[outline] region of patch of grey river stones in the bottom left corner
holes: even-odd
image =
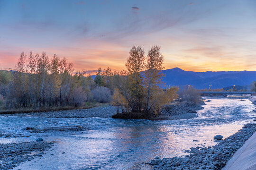
[[[0,170],[12,169],[22,162],[40,157],[52,145],[46,142],[0,144]]]

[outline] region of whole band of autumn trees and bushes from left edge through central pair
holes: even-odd
[[[73,64],[56,54],[50,58],[46,52],[22,52],[13,71],[0,71],[0,107],[78,107],[88,102],[111,102],[117,111],[158,114],[178,98],[179,90],[164,89],[163,63],[160,46],[152,46],[147,54],[141,46],[132,46],[126,70],[99,68],[93,79],[85,72],[74,73]]]

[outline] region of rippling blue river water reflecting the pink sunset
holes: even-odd
[[[156,155],[173,157],[195,146],[215,145],[213,136],[228,137],[252,120],[255,106],[249,100],[207,98],[195,119],[122,120],[106,118],[0,117],[0,132],[29,136],[0,137],[0,143],[55,141],[53,151],[25,162],[21,170],[130,170],[150,169],[142,162]],[[30,133],[26,127],[88,127],[85,131]],[[193,140],[198,140],[194,141]],[[63,154],[63,152],[65,152]],[[52,155],[53,154],[53,155]],[[36,162],[34,162],[36,161]]]

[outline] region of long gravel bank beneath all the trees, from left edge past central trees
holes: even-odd
[[[192,119],[197,117],[196,110],[201,110],[204,102],[200,104],[193,104],[189,102],[175,102],[161,111],[157,116],[151,116],[150,120],[174,120],[174,119]],[[121,111],[121,110],[120,110]],[[73,110],[52,110],[52,111],[42,111],[42,112],[21,112],[12,114],[0,114],[0,116],[21,116],[21,117],[44,117],[44,118],[119,118],[113,115],[116,114],[116,107],[105,104],[98,107],[93,107],[90,109],[73,109]],[[125,119],[148,119],[137,114],[131,113],[119,113],[120,118]]]

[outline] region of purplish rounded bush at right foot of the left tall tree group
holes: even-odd
[[[86,93],[82,90],[82,87],[74,88],[71,93],[71,103],[75,106],[82,106],[86,101]]]

